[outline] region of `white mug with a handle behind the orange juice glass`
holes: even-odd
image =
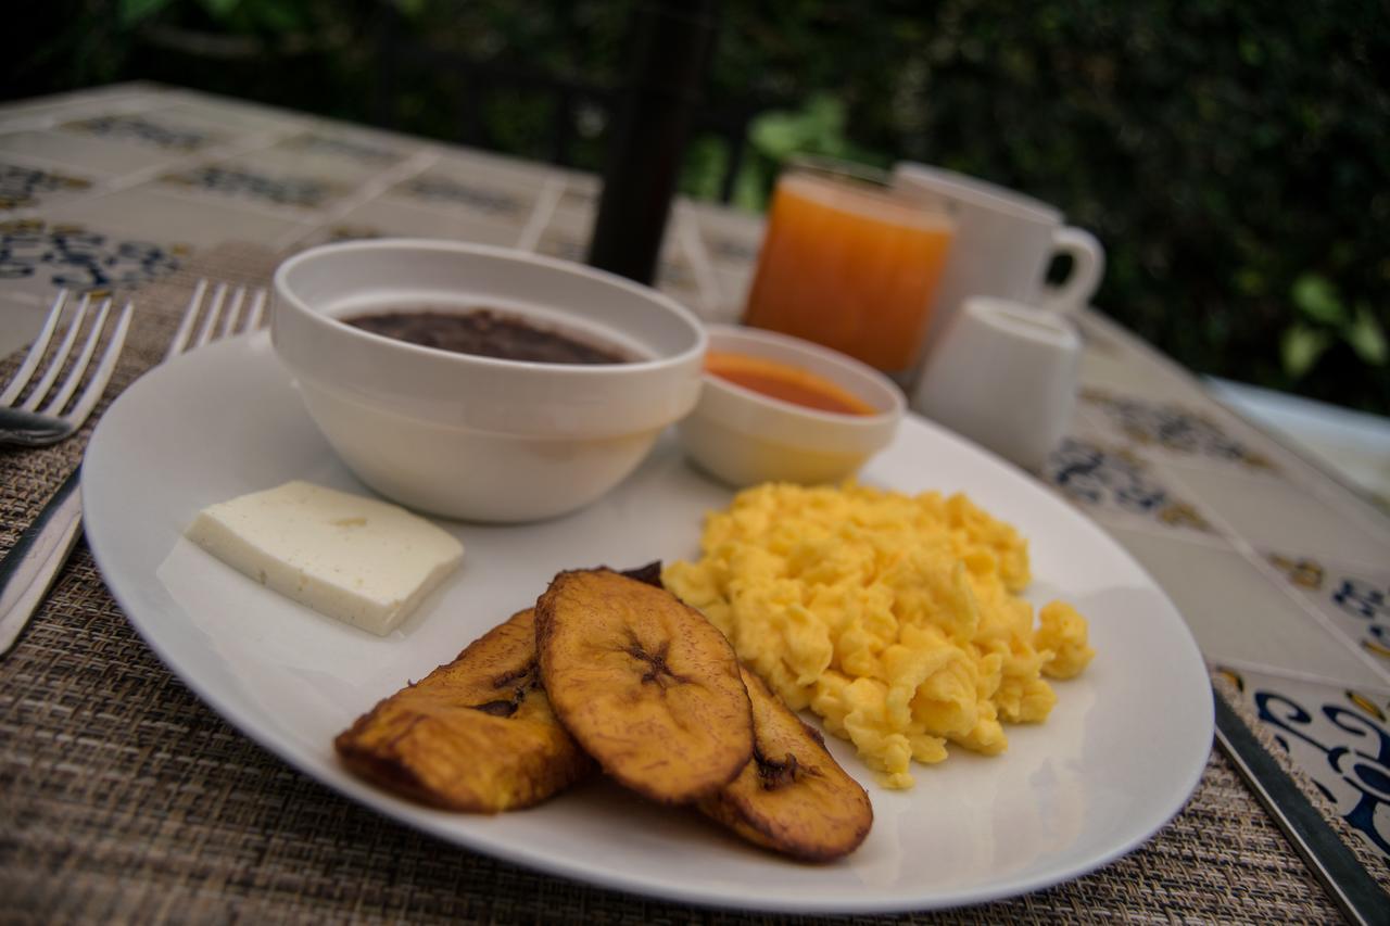
[[[902,161],[892,185],[923,203],[945,206],[955,241],[937,285],[929,341],[969,296],[999,296],[1056,311],[1083,309],[1101,284],[1105,249],[1062,213],[1011,189],[926,164]],[[1048,285],[1052,257],[1069,254],[1066,281]]]

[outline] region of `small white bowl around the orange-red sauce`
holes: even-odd
[[[712,352],[776,360],[848,391],[873,414],[817,412],[705,374],[699,405],[680,423],[687,455],[734,487],[838,482],[885,448],[902,420],[902,391],[838,350],[759,328],[710,325]]]

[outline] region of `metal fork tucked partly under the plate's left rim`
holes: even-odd
[[[265,310],[264,289],[250,293],[250,306],[245,313],[242,311],[247,296],[245,286],[234,289],[227,284],[217,284],[204,309],[207,291],[208,282],[199,279],[164,355],[165,360],[218,338],[254,331],[261,325]],[[129,306],[126,306],[128,313]],[[82,520],[82,496],[75,491],[79,471],[72,471],[33,524],[19,537],[10,555],[0,562],[0,655],[10,651],[15,637],[29,623],[29,617],[33,616],[76,542]]]

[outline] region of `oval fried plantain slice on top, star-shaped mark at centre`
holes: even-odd
[[[734,648],[698,610],[609,569],[560,573],[535,606],[562,723],[619,783],[662,804],[712,794],[753,751]]]

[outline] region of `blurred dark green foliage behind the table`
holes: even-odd
[[[634,3],[381,0],[409,33],[517,71],[616,86]],[[147,76],[371,121],[374,0],[21,1],[39,40],[7,96]],[[21,17],[22,18],[22,17]],[[253,39],[214,61],[167,26]],[[165,29],[167,31],[167,29]],[[1026,190],[1094,231],[1097,304],[1204,373],[1390,413],[1390,7],[1383,0],[728,0],[708,101],[763,103],[735,202],[758,209],[794,150],[942,164]],[[471,95],[470,95],[471,93]],[[486,99],[402,72],[400,128],[546,154],[553,100]],[[602,163],[581,108],[573,160]],[[691,145],[682,185],[728,163]]]

